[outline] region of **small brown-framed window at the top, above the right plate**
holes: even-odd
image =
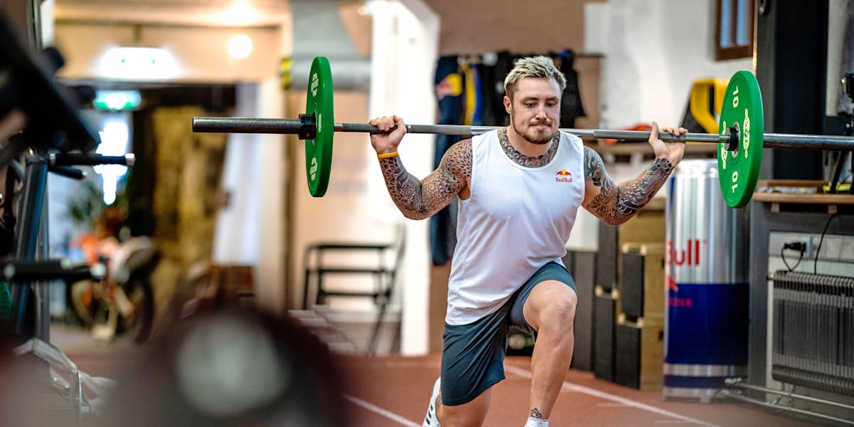
[[[717,0],[715,59],[753,56],[755,0]]]

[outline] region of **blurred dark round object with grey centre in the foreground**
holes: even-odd
[[[336,361],[285,317],[196,313],[145,351],[98,425],[348,425]]]

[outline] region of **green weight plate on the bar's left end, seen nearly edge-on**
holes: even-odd
[[[312,61],[308,73],[306,114],[314,114],[317,132],[314,139],[306,139],[306,176],[308,191],[315,197],[326,194],[332,167],[332,134],[335,120],[332,106],[332,71],[329,61],[318,56]]]

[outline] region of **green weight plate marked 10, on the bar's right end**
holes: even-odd
[[[729,80],[723,97],[718,132],[737,127],[739,145],[728,151],[722,143],[717,151],[717,178],[723,199],[732,208],[743,208],[750,202],[759,180],[762,165],[764,120],[762,94],[753,73],[739,71]]]

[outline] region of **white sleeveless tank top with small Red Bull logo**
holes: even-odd
[[[561,132],[544,167],[504,153],[498,131],[471,138],[471,196],[459,202],[457,246],[448,280],[448,325],[493,313],[541,266],[561,265],[584,200],[584,146]]]

